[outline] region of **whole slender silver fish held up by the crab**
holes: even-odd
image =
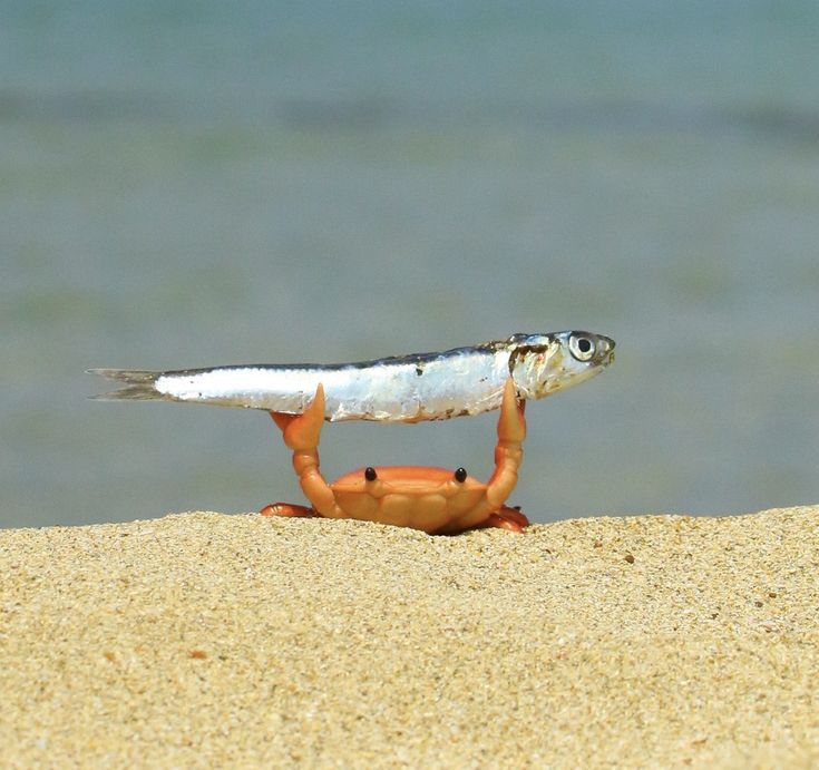
[[[500,407],[511,374],[517,396],[539,399],[583,382],[614,360],[614,340],[565,331],[358,363],[287,363],[179,371],[89,369],[126,384],[91,398],[187,401],[300,415],[324,386],[330,422],[418,422]]]

